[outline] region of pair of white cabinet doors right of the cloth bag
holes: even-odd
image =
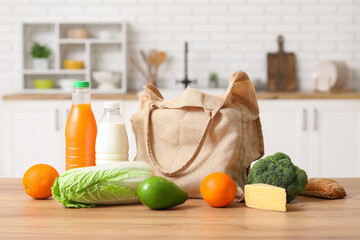
[[[359,100],[260,100],[265,156],[287,153],[309,177],[360,177]]]

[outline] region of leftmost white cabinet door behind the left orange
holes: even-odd
[[[22,177],[34,164],[64,172],[61,104],[57,101],[6,101],[4,107],[4,177]]]

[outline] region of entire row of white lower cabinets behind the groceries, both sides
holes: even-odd
[[[106,100],[92,101],[99,124]],[[265,156],[284,152],[309,177],[360,177],[359,100],[259,100]],[[1,177],[22,177],[37,163],[65,170],[65,125],[70,100],[3,101]],[[129,137],[129,159],[136,155],[130,117],[138,101],[121,101]]]

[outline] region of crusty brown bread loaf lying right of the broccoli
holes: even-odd
[[[336,199],[346,196],[345,189],[333,179],[311,178],[300,195]]]

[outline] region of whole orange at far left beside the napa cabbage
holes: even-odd
[[[24,174],[25,192],[33,198],[51,197],[51,187],[59,173],[50,165],[37,164],[30,167]]]

